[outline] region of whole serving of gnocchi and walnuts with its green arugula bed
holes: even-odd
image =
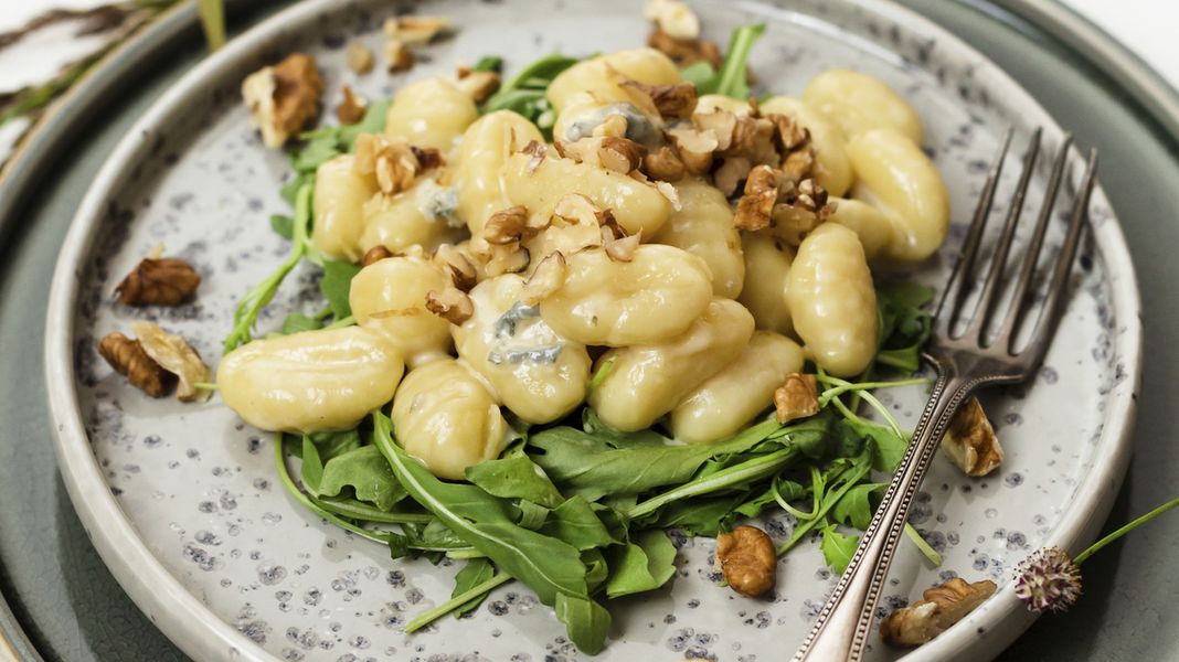
[[[887,410],[877,425],[841,393],[878,388],[877,365],[911,376],[929,333],[930,293],[872,276],[946,238],[917,113],[852,71],[751,98],[764,26],[722,59],[681,4],[648,9],[652,47],[542,58],[494,93],[485,58],[292,154],[292,253],[243,298],[217,388],[277,432],[316,515],[394,558],[467,560],[407,633],[519,580],[597,653],[600,601],[676,575],[672,527],[716,536],[746,596],[809,532],[842,571],[857,538],[836,527],[868,499],[777,548],[736,521],[829,510],[904,452]],[[252,339],[303,258],[328,307]]]

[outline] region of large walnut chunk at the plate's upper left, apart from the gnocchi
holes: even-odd
[[[268,147],[282,147],[318,114],[323,78],[315,58],[292,53],[272,67],[263,67],[242,81],[242,98],[250,107],[250,123],[262,132]]]

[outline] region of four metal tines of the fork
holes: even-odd
[[[1081,178],[1076,197],[1073,200],[1073,208],[1069,214],[1065,240],[1061,244],[1060,252],[1055,258],[1055,265],[1052,269],[1052,280],[1048,285],[1043,305],[1040,306],[1040,315],[1038,317],[1036,325],[1028,336],[1030,339],[1027,342],[1026,346],[1016,347],[1015,344],[1019,331],[1022,329],[1029,313],[1032,312],[1030,309],[1033,306],[1028,300],[1028,291],[1035,277],[1040,250],[1043,246],[1043,238],[1053,216],[1052,212],[1056,204],[1056,197],[1060,191],[1061,183],[1063,181],[1065,166],[1069,160],[1073,139],[1071,135],[1066,135],[1061,141],[1055,163],[1052,167],[1052,174],[1048,179],[1048,186],[1045,190],[1043,201],[1040,206],[1040,214],[1036,220],[1035,230],[1028,241],[1023,254],[1023,263],[1019,270],[1017,280],[1015,282],[1013,293],[1009,297],[1010,303],[1007,306],[1002,322],[997,326],[997,331],[994,336],[989,336],[988,330],[994,327],[994,316],[996,313],[995,309],[1010,283],[1009,279],[1005,277],[1005,272],[1007,260],[1012,251],[1012,245],[1015,239],[1015,229],[1019,225],[1025,198],[1027,197],[1032,176],[1035,172],[1036,159],[1040,155],[1040,143],[1042,137],[1042,131],[1040,128],[1036,128],[1032,133],[1027,151],[1023,153],[1023,168],[1020,172],[1019,184],[1016,185],[1015,192],[1012,194],[1010,204],[1007,210],[1007,218],[1003,223],[999,241],[995,245],[995,250],[990,259],[989,271],[987,272],[986,279],[982,280],[982,290],[979,293],[977,303],[974,305],[968,317],[963,317],[964,311],[962,309],[968,294],[970,293],[971,284],[975,282],[975,263],[979,260],[979,250],[983,244],[987,220],[990,217],[995,199],[995,191],[999,186],[999,176],[1002,173],[1003,161],[1010,147],[1013,134],[1014,128],[1008,130],[1007,134],[1003,137],[1003,143],[999,150],[999,154],[995,157],[995,161],[987,174],[987,180],[982,188],[982,196],[979,199],[979,205],[974,212],[974,219],[970,223],[970,229],[967,232],[966,240],[962,245],[961,257],[954,267],[954,273],[950,276],[946,292],[942,294],[941,304],[937,309],[936,324],[938,335],[947,344],[961,344],[963,349],[999,345],[1006,347],[1009,356],[1030,358],[1033,363],[1039,363],[1039,360],[1043,358],[1043,352],[1047,350],[1048,342],[1055,330],[1056,322],[1059,320],[1062,310],[1065,293],[1068,289],[1068,276],[1072,271],[1073,260],[1076,257],[1078,246],[1080,245],[1081,230],[1085,225],[1089,204],[1089,194],[1093,191],[1094,171],[1096,170],[1096,151],[1094,150],[1089,152],[1088,163],[1085,166],[1085,174]],[[964,322],[966,327],[961,332],[955,333],[955,330],[961,327],[962,322]]]

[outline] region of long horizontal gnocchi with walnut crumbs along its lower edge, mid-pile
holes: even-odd
[[[513,205],[523,205],[531,216],[546,221],[569,193],[580,193],[599,208],[611,210],[628,234],[641,232],[651,237],[671,216],[671,200],[654,186],[604,167],[559,158],[552,151],[539,164],[528,154],[509,157],[503,168],[503,186]]]

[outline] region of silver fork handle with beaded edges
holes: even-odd
[[[929,470],[942,435],[962,400],[979,384],[963,378],[953,363],[933,362],[937,369],[934,390],[917,423],[901,465],[872,516],[848,569],[839,577],[818,620],[795,654],[795,662],[855,662],[864,653],[872,613],[880,598],[893,552],[901,539],[909,505]]]

